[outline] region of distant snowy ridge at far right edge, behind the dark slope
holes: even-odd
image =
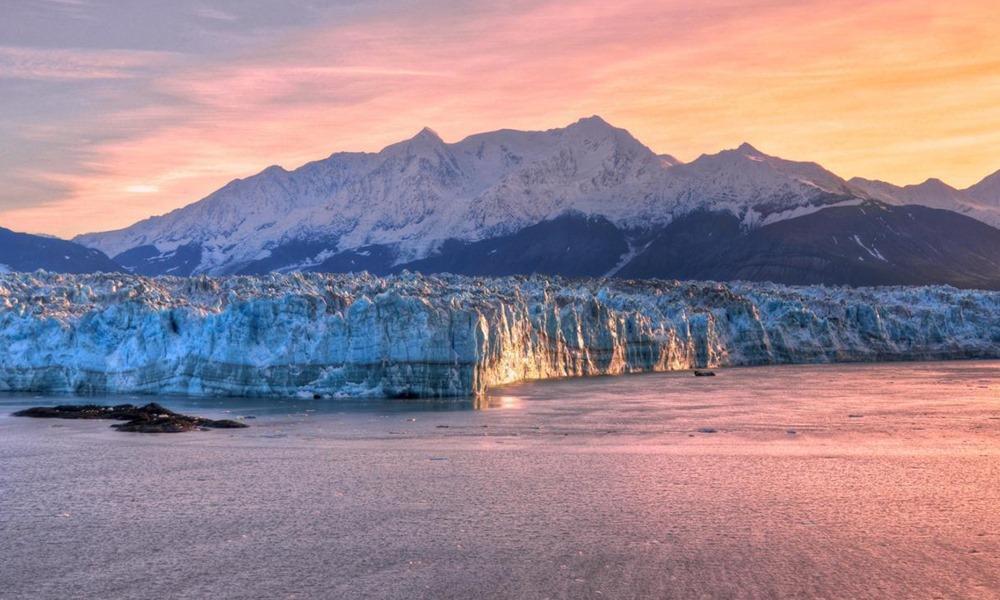
[[[897,186],[885,181],[855,177],[850,185],[871,198],[887,204],[919,204],[972,217],[993,227],[1000,227],[1000,177],[995,184],[989,178],[968,190],[958,190],[940,179],[928,179],[917,185]],[[992,204],[987,201],[992,196]]]

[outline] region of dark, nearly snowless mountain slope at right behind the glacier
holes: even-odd
[[[741,232],[698,213],[661,231],[621,277],[1000,289],[1000,230],[923,206],[824,209]]]

